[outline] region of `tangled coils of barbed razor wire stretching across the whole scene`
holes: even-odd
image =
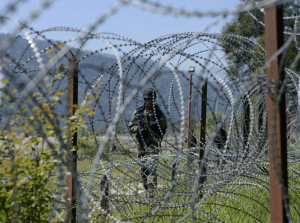
[[[21,1],[15,1],[15,5],[18,2]],[[273,2],[281,4],[283,1]],[[235,220],[231,215],[238,216],[236,221],[268,221],[270,186],[266,95],[272,94],[275,83],[266,79],[264,48],[247,37],[226,32],[205,33],[231,13],[248,12],[258,26],[264,26],[263,21],[257,19],[251,10],[264,8],[265,3],[248,1],[228,11],[191,12],[151,1],[118,1],[85,30],[52,27],[38,31],[29,27],[27,24],[30,20],[35,19],[51,3],[52,1],[44,1],[38,12],[33,12],[25,22],[9,18],[7,15],[15,9],[7,6],[1,22],[10,20],[17,26],[0,43],[1,58],[11,59],[0,66],[0,79],[7,80],[4,82],[6,84],[2,83],[0,86],[1,104],[9,104],[14,99],[15,105],[14,108],[1,107],[3,132],[11,130],[10,115],[17,112],[18,108],[42,106],[37,97],[31,97],[32,92],[51,104],[57,100],[56,92],[68,89],[70,69],[66,55],[70,50],[75,57],[74,63],[79,67],[79,104],[86,105],[89,102],[87,107],[94,112],[84,118],[85,127],[78,127],[78,155],[68,158],[67,142],[60,128],[66,124],[66,119],[59,118],[60,115],[67,114],[64,106],[67,98],[62,96],[63,103],[55,106],[54,116],[49,112],[41,114],[50,118],[56,127],[53,128],[51,137],[42,133],[43,128],[47,128],[45,126],[37,127],[41,132],[35,134],[40,134],[49,150],[54,150],[54,144],[60,144],[60,152],[55,156],[59,168],[57,172],[51,173],[52,178],[58,179],[56,182],[59,189],[52,191],[56,199],[52,204],[50,221],[66,219],[65,167],[72,159],[77,160],[78,166],[78,222],[99,222],[99,219],[103,220],[103,216],[113,222],[228,222]],[[199,32],[169,34],[147,43],[139,43],[114,33],[94,33],[97,26],[121,10],[125,4],[167,15],[209,15],[216,18]],[[264,11],[261,10],[261,13]],[[288,44],[284,47],[294,45],[298,49],[298,15],[284,19],[293,19],[295,24],[294,32],[287,33]],[[74,32],[75,38],[61,41],[60,46],[47,38],[50,32]],[[17,36],[18,34],[20,35]],[[19,58],[14,58],[8,49],[17,40],[26,40],[27,47]],[[39,40],[45,40],[49,46],[38,48]],[[91,40],[102,41],[106,46],[94,51],[84,51],[83,47]],[[74,48],[75,45],[79,47]],[[245,66],[251,71],[250,75],[234,73],[224,63],[223,57],[218,53],[224,45],[234,53],[247,53],[250,59]],[[56,55],[52,61],[43,59],[46,54],[54,51]],[[103,63],[101,58],[109,58],[110,63]],[[299,53],[294,62],[298,59]],[[186,64],[197,67],[192,74],[191,119],[194,125],[189,129],[192,137],[189,138],[191,147],[187,149],[189,74],[182,68]],[[256,69],[257,64],[262,68]],[[65,69],[57,72],[59,67]],[[288,190],[291,197],[298,198],[300,79],[295,70],[286,68],[284,72],[288,120]],[[53,82],[53,78],[56,82]],[[206,142],[203,142],[200,139],[201,87],[206,79]],[[271,83],[268,87],[267,82]],[[45,91],[45,86],[51,92]],[[155,196],[151,199],[147,198],[140,173],[146,158],[138,158],[138,142],[128,130],[132,113],[143,105],[142,93],[148,87],[155,89],[156,104],[165,114],[168,125],[159,154],[149,155],[156,165],[158,178]],[[12,93],[15,88],[19,90],[17,95]],[[27,97],[32,98],[30,103],[25,101]],[[23,118],[35,115],[31,109],[22,114]],[[157,113],[155,122],[159,123]],[[13,126],[22,127],[24,123],[26,119],[19,119]],[[216,143],[221,129],[226,132],[226,140],[222,145]],[[160,126],[159,131],[164,135]],[[19,134],[22,132],[19,131]],[[205,162],[200,162],[199,153],[203,149],[205,152],[202,161]],[[3,149],[1,152],[14,156],[20,150],[22,147],[15,148],[15,151]],[[39,156],[38,151],[36,149],[33,157]],[[2,161],[5,157],[2,157]],[[202,163],[200,167],[199,163]],[[206,171],[203,171],[204,168]],[[206,180],[200,182],[203,177]],[[7,181],[4,178],[1,180],[2,184]],[[107,192],[103,190],[103,185]],[[107,201],[105,209],[102,206],[103,200]],[[291,221],[299,221],[299,205],[299,199],[290,200]]]

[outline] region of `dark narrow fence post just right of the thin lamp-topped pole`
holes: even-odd
[[[205,149],[205,134],[206,134],[206,107],[207,107],[207,78],[204,80],[203,86],[202,86],[202,100],[201,100],[201,126],[200,126],[200,154],[199,154],[199,171],[200,166],[203,162],[203,168],[202,172],[199,178],[199,190],[200,190],[200,198],[203,197],[203,184],[206,181],[206,159],[204,157],[204,149]]]

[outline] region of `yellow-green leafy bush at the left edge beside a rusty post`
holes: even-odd
[[[61,65],[51,82],[63,71]],[[64,91],[54,91],[51,83],[42,81],[39,89],[25,98],[34,103],[31,107],[16,106],[18,90],[11,89],[9,82],[6,87],[5,97],[10,100],[6,106],[16,112],[0,132],[0,222],[48,222],[59,189],[52,173],[65,170],[65,166],[57,170],[57,164],[64,163],[71,150],[64,149],[70,142],[67,139],[86,129],[84,119],[92,112],[88,106],[93,96],[75,105],[75,114],[66,117],[55,112]]]

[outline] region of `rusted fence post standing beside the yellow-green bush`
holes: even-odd
[[[78,64],[75,63],[74,55],[69,51],[68,73],[68,115],[75,113],[74,105],[78,104]],[[77,146],[77,133],[68,140],[68,166],[67,166],[67,222],[76,223],[77,201],[77,151],[72,150]]]

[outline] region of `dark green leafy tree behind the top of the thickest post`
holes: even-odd
[[[247,0],[246,2],[250,2]],[[300,15],[300,5],[295,3],[284,4],[284,17],[291,17]],[[255,9],[250,12],[242,12],[236,14],[232,21],[227,23],[223,27],[223,34],[233,34],[237,36],[247,37],[258,43],[263,49],[265,48],[265,35],[264,35],[264,13],[260,9]],[[295,19],[284,20],[284,39],[285,41],[290,37],[287,33],[294,31]],[[227,35],[228,36],[228,35]],[[248,75],[255,72],[262,66],[263,61],[257,61],[253,58],[253,55],[247,52],[250,48],[250,44],[253,43],[241,43],[240,41],[230,42],[222,41],[223,51],[226,54],[226,60],[229,65],[229,70],[234,75]],[[297,43],[296,43],[297,44]],[[298,54],[295,42],[289,45],[285,51],[284,66],[290,68],[294,58]],[[244,45],[243,50],[241,49]],[[258,48],[259,50],[259,48]],[[263,50],[259,50],[264,54]],[[299,70],[300,63],[297,62],[292,69]]]

